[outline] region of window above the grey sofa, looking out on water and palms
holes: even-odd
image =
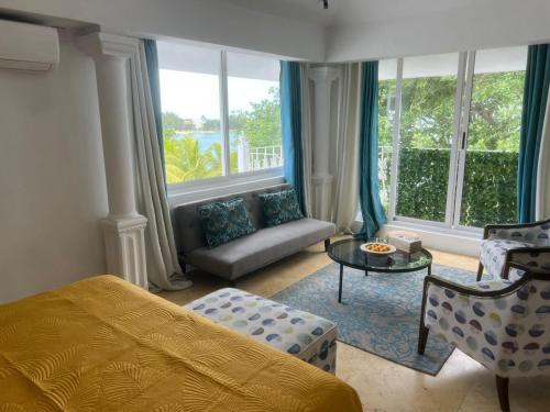
[[[157,47],[168,185],[283,165],[277,59]]]

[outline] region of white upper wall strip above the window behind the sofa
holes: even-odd
[[[314,62],[324,58],[322,26],[223,0],[2,0],[0,7],[95,23],[121,34],[186,38]]]

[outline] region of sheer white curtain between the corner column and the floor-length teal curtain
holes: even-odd
[[[334,196],[331,220],[342,233],[355,232],[359,199],[359,111],[361,69],[359,63],[342,67],[338,93]]]

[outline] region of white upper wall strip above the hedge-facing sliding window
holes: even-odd
[[[327,31],[328,62],[381,59],[550,41],[550,1],[484,0],[444,13],[418,12]]]

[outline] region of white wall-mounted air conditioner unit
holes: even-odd
[[[0,20],[0,69],[40,73],[58,63],[57,30]]]

